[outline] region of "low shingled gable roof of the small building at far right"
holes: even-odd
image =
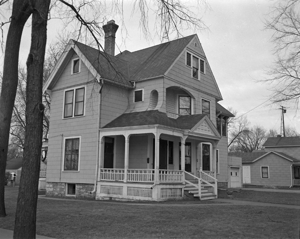
[[[230,152],[228,153],[228,156],[235,156],[235,157],[241,157],[241,162],[242,163],[253,163],[263,157],[265,157],[266,155],[270,154],[270,153],[275,153],[291,162],[300,162],[300,160],[293,158],[283,152],[277,152],[277,151],[259,151],[259,152]]]

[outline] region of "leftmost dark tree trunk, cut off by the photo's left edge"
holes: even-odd
[[[28,0],[14,0],[7,33],[3,79],[0,95],[0,217],[6,216],[4,204],[4,175],[7,159],[10,120],[18,85],[18,61],[22,31],[31,14]]]

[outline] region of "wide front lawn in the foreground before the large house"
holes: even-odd
[[[1,228],[13,230],[17,190],[5,187],[8,215],[0,218]],[[38,199],[37,205],[37,234],[58,239],[299,238],[299,221],[297,209],[185,201]]]

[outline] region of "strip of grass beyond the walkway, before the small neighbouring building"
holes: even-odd
[[[232,191],[232,190],[231,190]],[[233,192],[232,199],[246,200],[254,202],[264,203],[278,203],[288,205],[300,206],[300,194],[299,193],[281,193],[281,192],[262,192],[253,190],[240,190],[240,192]],[[224,190],[218,190],[218,198],[228,199],[227,192]]]

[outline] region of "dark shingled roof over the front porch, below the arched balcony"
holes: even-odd
[[[192,129],[200,120],[206,115],[188,115],[180,116],[177,119],[172,119],[166,113],[158,110],[148,110],[142,112],[133,112],[123,114],[117,119],[106,124],[103,128],[116,128],[128,126],[142,126],[142,125],[163,125],[178,129]]]

